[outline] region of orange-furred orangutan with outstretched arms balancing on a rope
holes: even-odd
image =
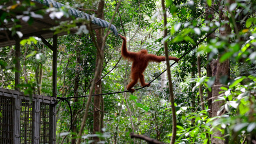
[[[138,79],[140,79],[141,86],[150,86],[150,84],[145,83],[143,72],[148,66],[148,62],[161,62],[165,61],[165,57],[157,56],[155,54],[148,54],[147,50],[140,50],[140,52],[130,52],[126,48],[126,38],[122,35],[119,35],[123,39],[123,45],[121,49],[121,54],[124,59],[129,59],[133,61],[131,69],[131,79],[132,81],[127,85],[127,90],[134,92],[132,87],[137,84]],[[169,60],[174,60],[177,63],[179,58],[169,56]]]

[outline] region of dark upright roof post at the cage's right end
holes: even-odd
[[[57,98],[57,49],[58,36],[53,35],[53,51],[52,51],[52,97]]]

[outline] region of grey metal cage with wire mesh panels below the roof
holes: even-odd
[[[0,88],[0,144],[55,143],[56,98]]]

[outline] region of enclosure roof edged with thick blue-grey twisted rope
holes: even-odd
[[[45,6],[49,6],[49,7],[52,6],[52,7],[56,7],[56,8],[65,6],[61,3],[51,1],[51,0],[34,0],[31,2],[35,3],[35,7],[30,12],[37,12],[39,10],[44,9]],[[12,5],[12,2],[9,2],[5,6],[8,7],[11,5]],[[107,28],[110,24],[109,22],[107,22],[105,20],[95,18],[90,14],[78,11],[73,8],[70,8],[68,10],[68,12],[73,17],[82,18],[82,19],[91,21],[92,29]],[[22,15],[23,11],[21,11],[19,9],[14,9],[14,10],[12,10],[12,13],[14,13],[14,15],[13,15],[13,18],[14,18],[14,17],[17,17],[17,15]],[[61,21],[73,20],[73,18],[71,18],[71,17],[69,17],[69,18],[62,17],[60,19],[57,19],[57,18],[51,19],[49,16],[49,13],[46,13],[45,15],[43,15],[43,18],[35,18],[34,17],[33,19],[34,19],[34,22],[31,25],[29,25],[27,22],[21,20],[20,31],[23,34],[22,39],[28,38],[30,36],[36,36],[36,35],[41,35],[44,38],[52,38],[53,31],[50,30],[50,28],[52,28],[54,26],[59,26],[59,23]],[[4,27],[6,27],[6,28],[12,28],[14,25],[13,22],[8,22],[8,23],[3,23],[3,24],[4,24]],[[3,26],[1,26],[1,27],[3,28]],[[113,31],[113,33],[115,35],[117,35],[117,30],[114,25],[111,25],[110,29]],[[77,29],[70,30],[71,33],[76,33],[76,31],[77,31]],[[66,35],[66,34],[67,34],[67,32],[62,32],[62,33],[59,33],[58,36],[62,36],[62,35]],[[13,37],[8,35],[5,30],[0,29],[0,47],[11,46],[14,44],[15,44],[15,40],[13,39]]]

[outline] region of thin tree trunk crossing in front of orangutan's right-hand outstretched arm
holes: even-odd
[[[166,10],[165,10],[165,4],[164,0],[162,0],[162,8],[163,8],[163,15],[164,15],[164,37],[167,36],[167,18],[166,18]],[[171,68],[170,68],[170,62],[169,62],[169,53],[168,53],[168,47],[167,42],[164,42],[164,52],[165,52],[165,59],[166,59],[166,65],[167,65],[167,75],[169,80],[169,93],[170,93],[170,99],[171,99],[171,107],[172,107],[172,138],[171,138],[171,144],[175,143],[176,138],[176,131],[177,131],[177,120],[176,120],[176,111],[174,106],[174,94],[173,94],[173,87],[172,87],[172,77],[171,77]]]

